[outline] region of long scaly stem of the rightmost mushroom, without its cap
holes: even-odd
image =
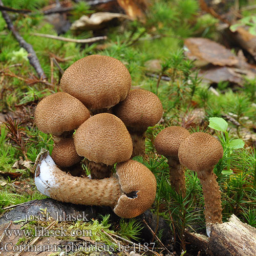
[[[197,176],[200,179],[203,188],[206,233],[209,237],[209,224],[222,223],[220,187],[216,180],[217,177],[214,174],[213,167],[205,171],[197,172]]]

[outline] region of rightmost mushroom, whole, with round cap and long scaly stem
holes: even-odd
[[[222,223],[220,187],[213,172],[214,166],[223,157],[221,143],[207,133],[193,133],[185,138],[178,152],[180,163],[197,172],[202,184],[206,232],[210,236],[209,223]]]

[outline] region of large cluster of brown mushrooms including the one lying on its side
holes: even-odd
[[[115,58],[91,55],[74,62],[62,75],[63,92],[42,99],[35,124],[52,134],[52,156],[37,158],[38,190],[63,202],[108,205],[123,218],[142,214],[154,202],[156,179],[143,164],[145,131],[162,117],[158,97],[131,89],[131,75]],[[86,158],[91,178],[74,177]],[[112,169],[116,165],[116,174]]]

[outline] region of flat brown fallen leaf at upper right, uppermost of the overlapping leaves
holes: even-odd
[[[239,62],[229,49],[207,38],[187,38],[184,47],[189,59],[203,61],[204,65],[212,63],[218,66],[234,66]]]

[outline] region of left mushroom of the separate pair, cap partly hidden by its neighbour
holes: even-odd
[[[155,139],[155,148],[158,154],[163,155],[168,160],[170,184],[177,193],[185,196],[185,170],[178,158],[180,143],[189,136],[189,132],[181,126],[170,126],[162,130]]]

